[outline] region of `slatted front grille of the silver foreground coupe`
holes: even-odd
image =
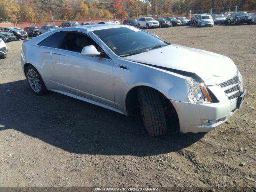
[[[224,92],[226,95],[228,95],[228,94],[230,95],[230,93],[236,92],[235,94],[228,96],[228,100],[238,98],[242,94],[242,92],[240,92],[239,88],[238,88],[238,77],[237,76],[235,76],[234,78],[229,79],[223,83],[220,83],[219,85],[224,89]],[[234,85],[234,86],[232,86],[229,89],[225,88],[230,85]]]

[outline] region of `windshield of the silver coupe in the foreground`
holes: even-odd
[[[135,27],[110,28],[92,32],[118,56],[129,56],[129,54],[138,54],[156,46],[168,45]]]

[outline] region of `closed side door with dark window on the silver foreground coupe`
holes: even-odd
[[[74,94],[114,106],[113,61],[102,56],[82,56],[82,48],[100,46],[81,32],[66,32],[52,53],[52,65],[60,86]]]

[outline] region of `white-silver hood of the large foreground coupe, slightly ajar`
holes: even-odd
[[[124,59],[197,74],[206,85],[220,84],[237,73],[234,62],[223,55],[171,44]]]

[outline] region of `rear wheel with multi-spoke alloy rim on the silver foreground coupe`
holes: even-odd
[[[26,68],[26,78],[34,94],[45,95],[47,93],[44,81],[34,66],[30,65]]]

